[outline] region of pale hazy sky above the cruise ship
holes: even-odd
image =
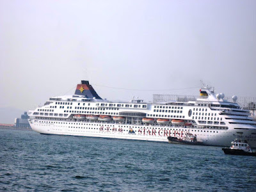
[[[256,97],[256,1],[0,0],[0,108],[34,109],[81,79],[100,97]],[[190,90],[172,90],[194,88]],[[141,90],[156,90],[152,92]]]

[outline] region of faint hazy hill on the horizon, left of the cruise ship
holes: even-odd
[[[16,108],[0,108],[0,124],[14,124],[15,118],[20,118],[23,113]]]

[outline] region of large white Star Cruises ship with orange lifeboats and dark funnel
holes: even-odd
[[[51,97],[29,111],[31,128],[41,134],[168,142],[168,136],[196,136],[204,145],[229,146],[236,138],[256,148],[256,122],[250,112],[215,94],[200,90],[195,100],[161,103],[101,99],[89,81],[77,84],[74,95]]]

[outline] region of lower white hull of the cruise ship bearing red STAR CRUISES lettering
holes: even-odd
[[[185,132],[196,134],[198,141],[203,141],[204,145],[229,146],[231,141],[236,138],[252,139],[251,132],[248,130],[240,136],[236,131],[210,132],[210,130],[195,130],[184,127],[166,127],[152,125],[125,125],[125,124],[102,124],[102,122],[66,122],[53,121],[52,123],[38,123],[36,120],[29,121],[33,131],[41,134],[58,134],[68,136],[85,136],[97,138],[113,138],[124,140],[143,140],[168,142],[168,136],[182,138]],[[63,125],[60,125],[60,124]],[[72,125],[75,124],[75,125]],[[78,125],[76,125],[78,124]],[[79,125],[80,124],[80,125]],[[102,129],[103,127],[103,129]],[[113,129],[115,128],[115,129]],[[120,131],[122,129],[122,131]],[[131,130],[133,132],[131,132]],[[209,131],[209,132],[207,132]],[[250,137],[250,138],[249,138]],[[256,136],[255,136],[256,138]],[[252,148],[256,148],[256,141],[250,141]]]

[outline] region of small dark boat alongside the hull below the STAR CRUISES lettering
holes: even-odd
[[[204,145],[202,141],[196,140],[196,134],[193,135],[191,133],[186,133],[184,138],[177,138],[177,137],[168,137],[168,143],[173,144],[187,144],[187,145]]]

